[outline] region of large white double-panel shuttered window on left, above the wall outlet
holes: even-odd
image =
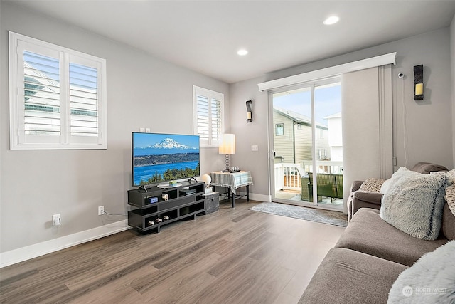
[[[107,149],[106,61],[9,32],[10,146]]]

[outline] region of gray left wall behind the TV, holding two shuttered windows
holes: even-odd
[[[0,4],[0,252],[125,219],[131,188],[131,132],[193,132],[193,85],[225,94],[229,85],[166,63],[135,48]],[[107,150],[9,150],[8,31],[107,60]],[[242,114],[245,114],[243,112]],[[245,116],[245,115],[243,115]],[[217,149],[201,151],[201,172],[223,168]],[[62,226],[50,226],[60,213]]]

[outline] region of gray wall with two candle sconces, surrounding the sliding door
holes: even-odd
[[[453,26],[452,26],[453,27]],[[452,33],[453,36],[453,33]],[[254,192],[268,194],[267,181],[267,115],[268,94],[260,93],[257,83],[268,80],[296,75],[327,68],[333,65],[357,61],[363,58],[379,56],[385,53],[397,52],[397,65],[392,68],[392,96],[394,107],[394,145],[397,156],[397,166],[405,166],[403,148],[404,131],[407,132],[407,165],[411,167],[416,162],[435,162],[448,168],[454,167],[454,152],[452,151],[452,132],[454,125],[451,115],[451,68],[449,28],[412,36],[399,41],[385,43],[372,48],[348,53],[343,56],[328,58],[295,68],[269,73],[231,85],[231,117],[232,132],[237,135],[237,147],[243,149],[242,154],[235,155],[237,164],[249,169],[254,178]],[[413,67],[424,65],[424,96],[419,103],[413,98]],[[397,88],[397,74],[405,73],[406,127],[403,128],[403,111],[401,90]],[[401,87],[400,87],[401,88]],[[245,100],[253,100],[253,115],[255,120],[245,122]],[[355,121],[352,122],[355,124]],[[361,139],[359,139],[361,140]],[[258,152],[250,152],[251,145],[259,145]],[[245,152],[245,154],[243,154]],[[240,157],[241,155],[241,157]],[[247,155],[247,157],[242,158]],[[254,155],[254,156],[253,156]]]

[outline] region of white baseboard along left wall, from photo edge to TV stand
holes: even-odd
[[[117,232],[125,231],[130,228],[131,227],[128,226],[128,221],[125,219],[123,221],[117,221],[93,229],[80,231],[76,234],[70,234],[69,236],[62,236],[58,239],[6,251],[0,253],[0,268],[30,260],[31,258],[36,258],[38,256],[44,256],[45,254],[76,246],[81,243],[100,239],[104,236],[117,234]]]

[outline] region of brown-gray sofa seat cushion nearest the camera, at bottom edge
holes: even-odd
[[[332,248],[299,303],[385,303],[393,282],[407,266],[345,248]]]

